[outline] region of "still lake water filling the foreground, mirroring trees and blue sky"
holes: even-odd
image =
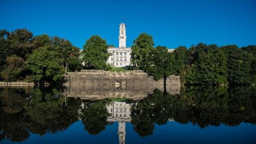
[[[0,87],[0,143],[256,143],[256,87]]]

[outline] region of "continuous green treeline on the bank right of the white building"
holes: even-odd
[[[154,47],[153,37],[140,34],[132,46],[132,63],[154,78],[179,75],[190,85],[249,85],[256,82],[256,45],[239,49],[236,45],[179,46],[168,52]]]

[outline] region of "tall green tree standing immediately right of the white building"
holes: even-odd
[[[153,37],[142,33],[136,38],[132,45],[131,62],[133,66],[145,69],[148,65],[147,57],[154,49]]]

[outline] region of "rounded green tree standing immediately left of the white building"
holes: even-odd
[[[106,61],[110,54],[105,40],[100,36],[91,36],[84,45],[83,61],[85,67],[92,69],[110,69]]]

